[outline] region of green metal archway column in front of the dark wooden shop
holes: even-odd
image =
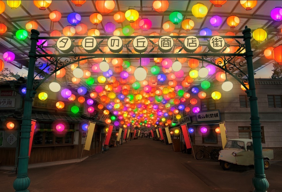
[[[28,77],[26,85],[26,97],[24,98],[24,116],[22,118],[21,136],[20,136],[20,156],[18,164],[18,175],[14,181],[13,187],[16,191],[26,192],[30,184],[30,178],[27,174],[28,169],[28,149],[29,138],[31,132],[31,110],[32,102],[35,97],[36,91],[33,91],[33,77],[35,68],[35,54],[36,44],[38,42],[39,32],[37,30],[31,30],[31,51],[29,52],[29,65],[28,65]]]

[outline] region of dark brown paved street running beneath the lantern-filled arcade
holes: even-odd
[[[0,191],[14,191],[16,177],[0,170]],[[269,192],[282,191],[282,163],[266,170]],[[252,191],[253,167],[224,171],[218,162],[194,160],[172,145],[143,138],[93,155],[81,163],[29,169],[29,190],[39,191]]]

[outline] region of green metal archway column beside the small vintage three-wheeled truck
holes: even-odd
[[[254,67],[253,67],[253,51],[251,50],[251,29],[245,26],[243,36],[246,46],[246,60],[249,79],[249,90],[246,91],[250,101],[251,110],[251,132],[254,145],[254,166],[255,174],[253,178],[254,192],[265,192],[268,187],[268,181],[264,174],[264,162],[262,156],[261,128],[260,117],[258,115],[258,97],[256,97]]]

